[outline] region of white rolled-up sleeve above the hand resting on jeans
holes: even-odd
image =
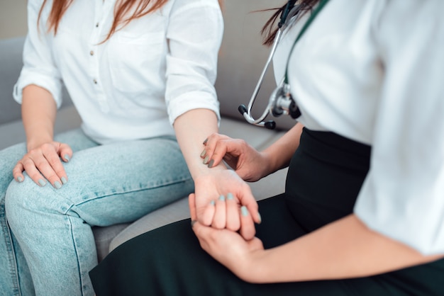
[[[14,86],[13,98],[21,103],[23,89],[35,84],[48,90],[59,108],[62,105],[62,81],[52,58],[50,39],[53,36],[47,32],[46,19],[40,18],[37,25],[41,4],[42,1],[28,1],[28,35],[23,47],[23,68]],[[49,4],[45,6],[45,9],[48,8]]]

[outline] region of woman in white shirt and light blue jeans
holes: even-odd
[[[222,33],[217,0],[28,1],[13,90],[27,142],[0,152],[0,295],[94,295],[91,226],[136,220],[202,176],[241,181],[199,157],[218,130]],[[83,123],[53,137],[62,84]],[[221,194],[199,184],[204,205]]]

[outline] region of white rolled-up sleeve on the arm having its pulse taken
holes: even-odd
[[[213,110],[220,119],[214,82],[222,35],[217,0],[176,1],[167,29],[170,52],[165,100],[171,124],[197,108]]]

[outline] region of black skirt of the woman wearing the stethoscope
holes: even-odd
[[[369,169],[365,144],[307,129],[300,143],[285,193],[259,202],[266,249],[350,215]],[[97,296],[444,295],[444,260],[367,278],[245,283],[201,249],[189,220],[127,241],[89,274]]]

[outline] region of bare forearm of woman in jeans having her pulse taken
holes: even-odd
[[[199,155],[204,149],[203,142],[206,137],[218,132],[216,114],[208,109],[190,110],[174,121],[174,130],[193,179],[196,180],[199,175],[208,173],[210,169],[202,164]],[[219,164],[218,167],[225,169],[223,164]]]

